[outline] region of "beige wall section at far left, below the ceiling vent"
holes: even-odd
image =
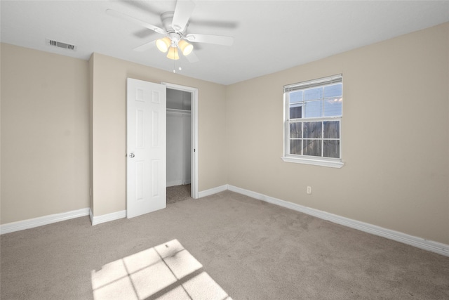
[[[1,44],[1,223],[88,207],[88,62]]]

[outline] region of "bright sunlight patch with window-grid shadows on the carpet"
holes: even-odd
[[[178,240],[91,271],[93,298],[232,300]]]

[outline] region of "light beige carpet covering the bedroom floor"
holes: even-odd
[[[0,241],[1,299],[94,299],[105,286],[97,277],[116,276],[114,266],[126,272],[110,282],[134,282],[121,299],[180,299],[176,292],[225,299],[223,291],[234,300],[449,299],[449,257],[230,191],[134,219],[91,226],[86,216]],[[163,256],[170,243],[182,246]],[[177,275],[183,266],[192,269],[187,277]],[[152,278],[163,274],[178,280],[157,289]],[[141,286],[147,294],[138,296]]]

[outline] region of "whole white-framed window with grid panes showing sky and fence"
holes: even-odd
[[[343,167],[342,75],[284,86],[284,162]]]

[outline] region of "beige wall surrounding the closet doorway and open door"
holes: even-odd
[[[126,78],[199,90],[199,190],[227,183],[225,86],[94,53],[93,215],[126,209]]]

